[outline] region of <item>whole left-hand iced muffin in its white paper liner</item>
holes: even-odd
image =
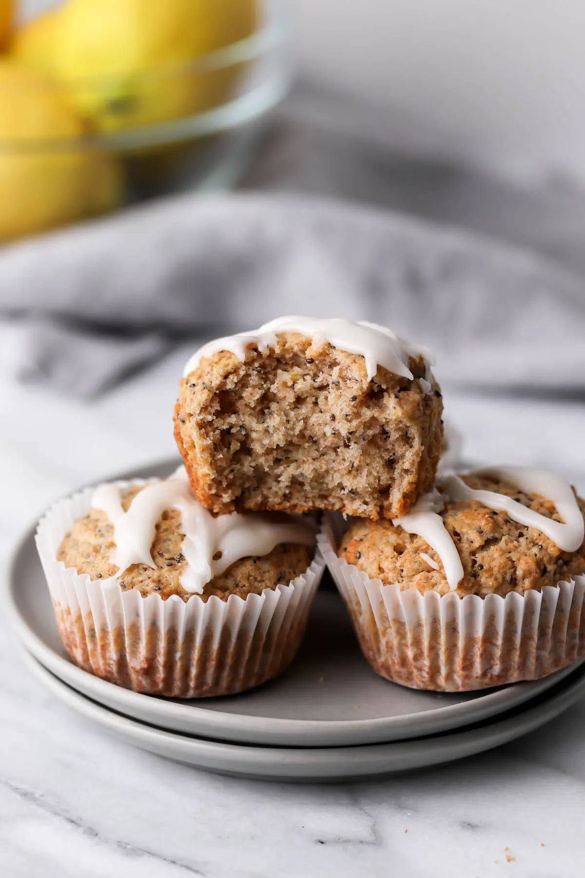
[[[120,686],[182,698],[281,673],[325,566],[311,522],[214,517],[183,468],[61,500],[37,544],[70,658]]]

